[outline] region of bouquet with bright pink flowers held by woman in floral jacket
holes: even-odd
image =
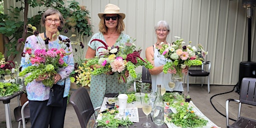
[[[39,41],[38,31],[36,31],[36,27],[32,26],[31,24],[27,25],[28,28],[33,29],[33,34],[37,37]],[[56,33],[58,36],[59,32]],[[22,56],[25,57],[25,62],[31,63],[31,65],[24,68],[21,72],[19,72],[19,76],[25,76],[24,84],[31,82],[33,79],[37,78],[39,75],[41,76],[48,76],[48,79],[44,79],[42,83],[45,86],[52,87],[54,83],[54,74],[57,73],[58,68],[65,67],[67,64],[64,62],[63,57],[70,54],[71,52],[66,52],[65,48],[69,47],[70,39],[62,39],[58,36],[58,39],[61,40],[60,49],[51,48],[48,49],[48,41],[49,38],[44,38],[45,48],[35,49],[32,51],[31,48],[26,48],[25,52],[22,53]],[[43,44],[43,43],[41,43]],[[69,50],[69,49],[68,49]]]

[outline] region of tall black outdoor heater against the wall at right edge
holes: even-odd
[[[256,0],[242,0],[242,6],[246,8],[248,18],[248,58],[247,61],[241,61],[239,64],[239,79],[236,86],[236,92],[240,92],[242,78],[256,78],[256,62],[250,61],[251,58],[251,17],[253,7],[256,6]]]

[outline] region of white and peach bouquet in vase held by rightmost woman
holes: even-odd
[[[182,68],[186,66],[201,65],[203,58],[208,53],[204,51],[201,44],[198,44],[199,50],[195,46],[184,45],[183,39],[178,36],[171,45],[163,44],[161,42],[162,48],[160,49],[160,54],[162,54],[168,61],[163,66],[163,72],[167,73],[169,68],[176,69],[176,74],[173,74],[172,79],[174,81],[182,81]],[[189,41],[191,43],[191,41]]]

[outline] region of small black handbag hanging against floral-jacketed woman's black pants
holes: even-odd
[[[50,88],[49,99],[47,102],[47,106],[62,106],[63,104],[63,94],[65,89],[65,81],[64,85],[53,84]]]

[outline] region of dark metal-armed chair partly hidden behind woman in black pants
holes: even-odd
[[[13,110],[14,112],[14,118],[18,122],[18,128],[20,127],[21,121],[23,128],[26,127],[26,119],[30,118],[30,110],[29,110],[29,105],[28,101],[26,101],[22,106],[17,106]]]

